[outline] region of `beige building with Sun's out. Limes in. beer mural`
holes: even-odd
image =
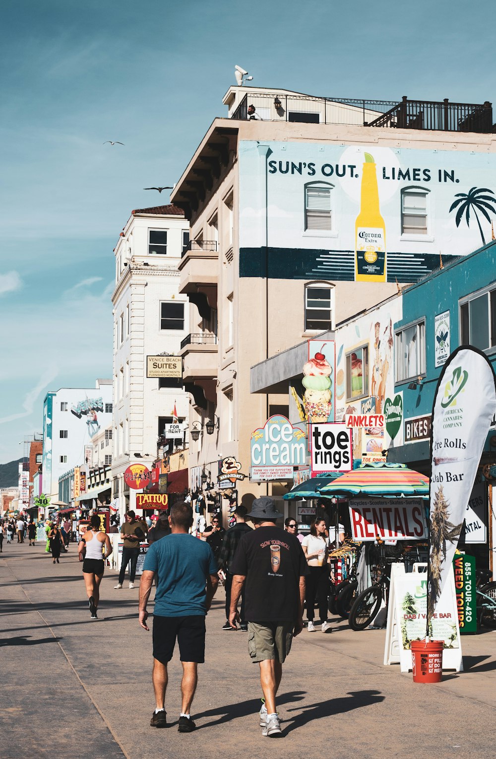
[[[485,215],[467,225],[457,196],[476,203],[477,188],[491,188],[496,138],[490,103],[231,87],[224,105],[228,118],[213,121],[171,200],[190,219],[179,266],[192,325],[181,350],[190,487],[200,475],[217,480],[230,457],[249,505],[285,490],[250,481],[251,433],[290,413],[284,372],[250,395],[250,367],[331,334],[487,240]]]

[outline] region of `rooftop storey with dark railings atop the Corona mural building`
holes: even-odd
[[[250,106],[255,107],[254,114],[248,113]],[[460,103],[447,99],[434,102],[409,100],[407,96],[398,102],[247,92],[231,118],[480,134],[493,131],[490,102]]]

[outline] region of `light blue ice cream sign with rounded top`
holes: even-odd
[[[294,467],[306,465],[305,433],[286,417],[270,417],[254,430],[250,449],[252,480],[292,478]]]

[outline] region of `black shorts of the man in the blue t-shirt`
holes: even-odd
[[[162,664],[171,661],[174,646],[179,644],[182,662],[205,661],[205,617],[153,617],[153,658]]]

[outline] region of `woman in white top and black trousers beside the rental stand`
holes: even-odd
[[[327,621],[329,568],[328,549],[329,539],[325,537],[325,519],[317,518],[310,524],[310,534],[303,538],[302,548],[309,565],[309,576],[306,578],[306,619],[308,631],[315,632],[313,619],[315,617],[315,599],[319,604],[320,624],[322,632],[331,632]]]

